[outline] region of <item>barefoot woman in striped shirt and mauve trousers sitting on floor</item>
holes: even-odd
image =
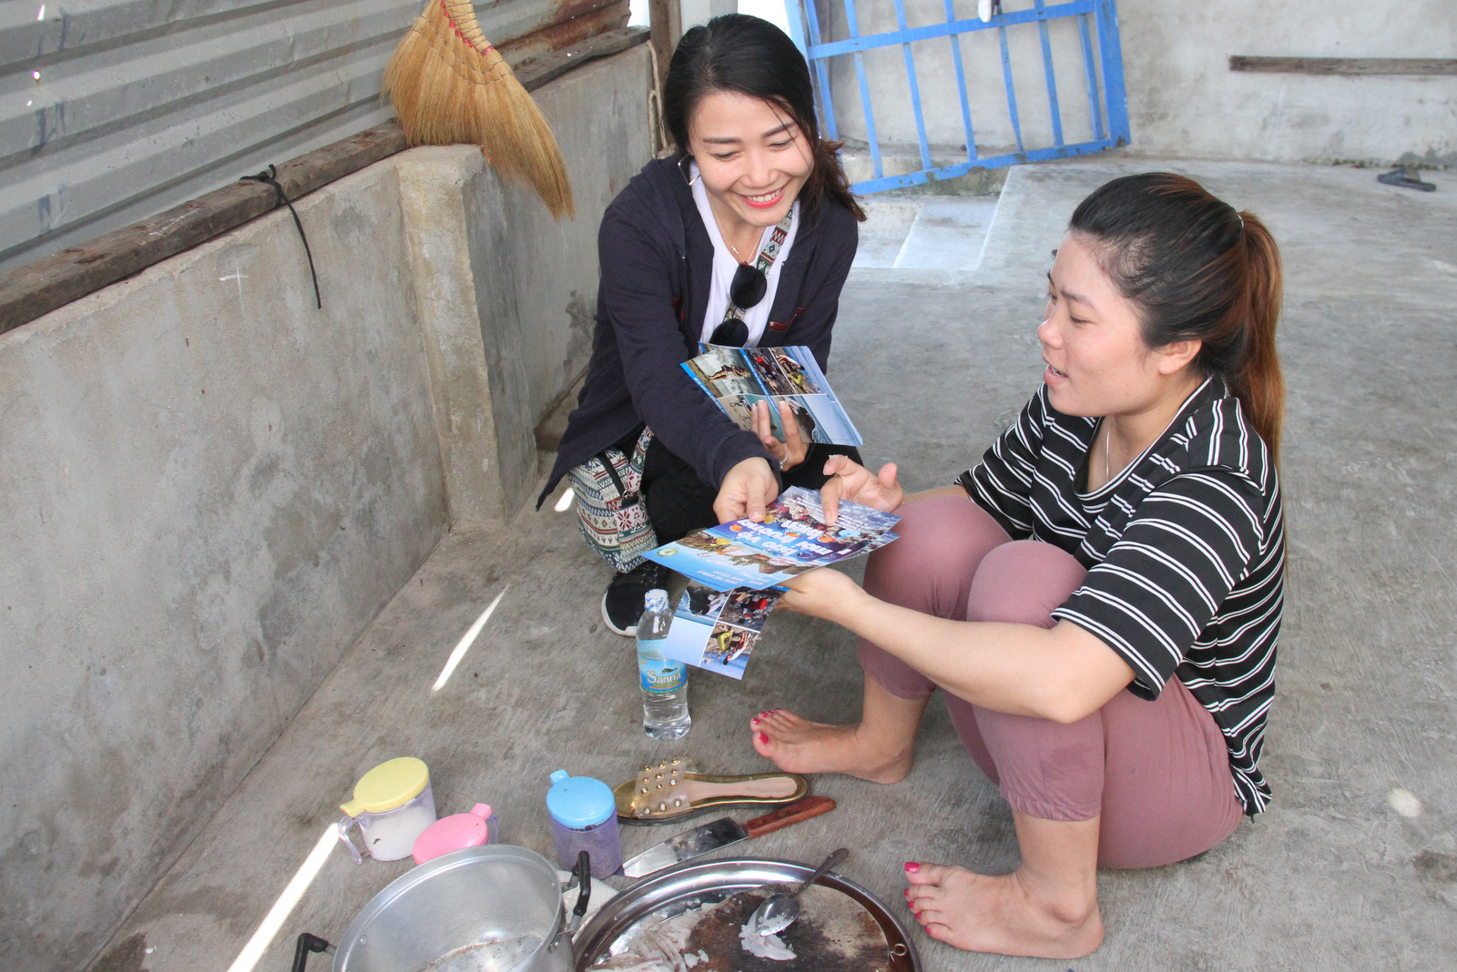
[[[895,783],[935,685],[1011,805],[1011,875],[911,861],[927,933],[1077,957],[1103,940],[1096,870],[1201,854],[1269,799],[1259,768],[1284,595],[1275,451],[1279,252],[1249,212],[1169,173],[1074,212],[1037,329],[1043,384],[956,486],[826,466],[900,514],[861,589],[833,570],[784,604],[861,636],[864,710],[752,720],[781,768]]]

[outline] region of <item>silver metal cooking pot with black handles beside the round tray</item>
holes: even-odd
[[[557,869],[525,847],[488,844],[441,854],[396,877],[344,930],[338,947],[299,936],[294,972],[310,952],[334,952],[334,972],[571,972],[571,933],[592,882],[567,921]]]

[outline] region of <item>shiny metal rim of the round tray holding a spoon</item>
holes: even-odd
[[[680,914],[761,885],[806,880],[813,872],[813,864],[790,860],[724,857],[650,875],[603,905],[576,934],[576,972],[589,972],[593,962],[608,955],[613,941],[653,912]],[[890,972],[921,972],[921,956],[911,934],[874,895],[833,873],[822,877],[820,885],[839,891],[870,912],[886,936]]]

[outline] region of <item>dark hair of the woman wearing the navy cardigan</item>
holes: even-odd
[[[726,13],[683,33],[663,81],[663,119],[679,157],[688,156],[688,122],[698,102],[714,92],[758,97],[787,112],[814,160],[800,191],[806,212],[813,215],[829,196],[864,221],[835,154],[839,143],[820,138],[809,64],[784,31],[746,13]]]

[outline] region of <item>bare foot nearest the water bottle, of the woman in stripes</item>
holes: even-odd
[[[858,726],[829,726],[772,709],[749,720],[753,748],[790,773],[844,773],[871,783],[899,783],[911,771],[912,746],[863,732]],[[912,736],[914,736],[912,726]]]

